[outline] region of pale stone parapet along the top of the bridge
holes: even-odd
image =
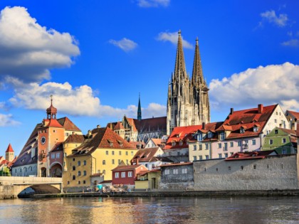
[[[22,183],[62,183],[59,177],[36,177],[36,176],[0,176],[0,184]]]

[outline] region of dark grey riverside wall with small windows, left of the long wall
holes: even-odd
[[[174,170],[177,169],[177,174]],[[187,169],[187,174],[182,174],[182,170]],[[166,174],[166,171],[169,174]],[[161,167],[161,181],[159,183],[159,190],[193,190],[194,176],[192,164],[177,166],[162,166]]]

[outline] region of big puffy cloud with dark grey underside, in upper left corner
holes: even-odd
[[[25,82],[50,78],[51,68],[68,67],[80,54],[70,33],[47,29],[27,9],[6,7],[0,12],[0,75]]]

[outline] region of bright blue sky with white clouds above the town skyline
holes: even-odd
[[[299,111],[299,1],[0,1],[0,155],[58,109],[85,134],[166,115],[177,32],[187,73],[199,38],[211,122],[230,108]]]

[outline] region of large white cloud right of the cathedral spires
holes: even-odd
[[[279,103],[284,110],[299,110],[299,65],[267,65],[249,68],[209,84],[211,106],[256,107]]]

